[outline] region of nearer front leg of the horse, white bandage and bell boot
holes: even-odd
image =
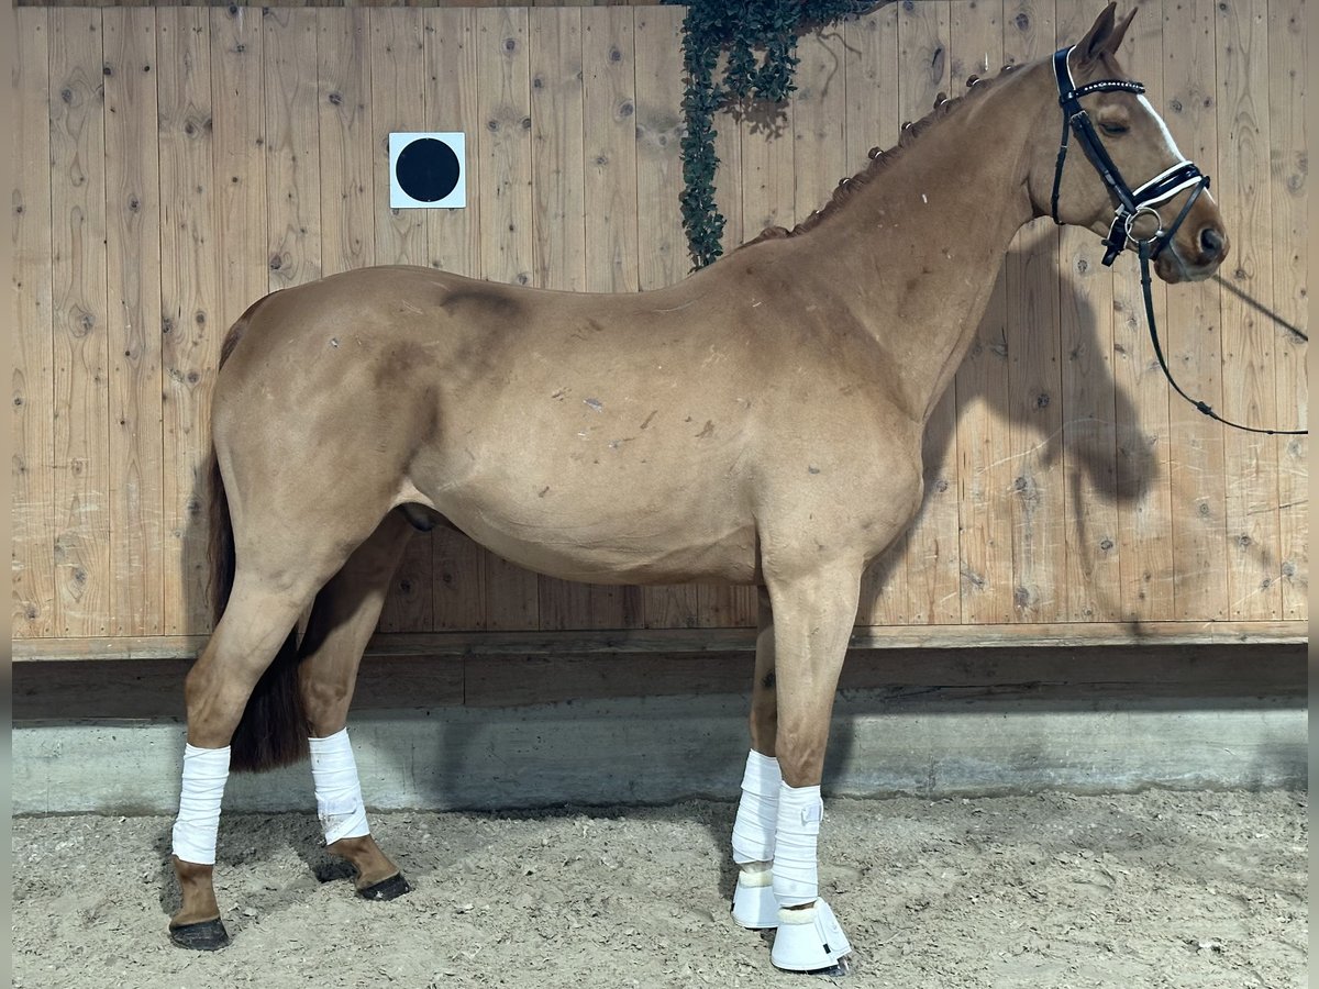
[[[770,881],[778,906],[772,960],[790,972],[838,971],[851,952],[834,911],[819,897],[816,849],[824,819],[824,749],[860,583],[859,563],[768,582],[774,756],[781,774]]]

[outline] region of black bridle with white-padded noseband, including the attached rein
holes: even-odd
[[[1163,376],[1167,378],[1167,382],[1173,385],[1173,389],[1182,396],[1182,398],[1188,401],[1211,419],[1221,422],[1224,426],[1245,430],[1246,433],[1265,433],[1269,435],[1310,435],[1310,430],[1265,430],[1231,422],[1213,411],[1207,402],[1191,398],[1191,396],[1183,392],[1182,386],[1177,384],[1177,380],[1173,377],[1173,372],[1167,365],[1167,360],[1163,356],[1163,347],[1159,344],[1158,330],[1154,324],[1150,261],[1157,258],[1163,248],[1173,241],[1173,237],[1177,235],[1178,228],[1181,228],[1182,222],[1186,219],[1187,214],[1191,212],[1191,207],[1195,204],[1195,200],[1200,198],[1200,193],[1210,187],[1210,177],[1203,174],[1192,162],[1183,160],[1134,190],[1128,186],[1126,179],[1122,178],[1122,173],[1117,170],[1117,165],[1113,164],[1108,150],[1104,148],[1104,142],[1099,140],[1099,135],[1095,132],[1095,125],[1091,123],[1089,113],[1087,113],[1080,105],[1080,98],[1092,92],[1142,94],[1145,92],[1145,87],[1138,82],[1129,79],[1100,79],[1078,87],[1075,79],[1072,79],[1071,67],[1067,65],[1067,55],[1070,55],[1071,51],[1072,49],[1064,47],[1054,53],[1054,79],[1058,83],[1058,104],[1063,108],[1063,136],[1058,146],[1058,165],[1054,169],[1054,191],[1050,200],[1050,212],[1054,218],[1054,223],[1060,223],[1058,219],[1058,193],[1063,181],[1063,165],[1067,161],[1067,144],[1071,135],[1075,132],[1078,142],[1086,152],[1086,157],[1089,158],[1089,164],[1095,166],[1095,171],[1099,173],[1099,177],[1104,181],[1109,194],[1112,194],[1113,199],[1117,202],[1117,208],[1113,214],[1113,223],[1108,229],[1108,236],[1104,237],[1103,241],[1105,248],[1104,264],[1112,265],[1113,260],[1122,251],[1132,244],[1136,245],[1136,252],[1141,260],[1141,290],[1145,294],[1145,319],[1149,322],[1150,340],[1154,343],[1154,353],[1158,357],[1158,364],[1163,369]],[[1191,190],[1191,194],[1186,198],[1186,204],[1177,214],[1177,219],[1173,220],[1171,225],[1165,229],[1163,218],[1155,207],[1166,203],[1173,199],[1173,196],[1187,189]],[[1154,219],[1155,229],[1149,237],[1138,237],[1136,235],[1136,223],[1142,214]]]

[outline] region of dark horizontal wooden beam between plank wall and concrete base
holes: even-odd
[[[106,663],[18,663],[15,721],[182,719],[179,658]],[[747,695],[745,650],[706,653],[372,655],[352,702],[367,711],[513,708],[615,698]],[[839,688],[869,691],[885,705],[1030,700],[1051,709],[1093,711],[1108,703],[1239,707],[1258,698],[1306,696],[1301,644],[1112,649],[857,649]]]

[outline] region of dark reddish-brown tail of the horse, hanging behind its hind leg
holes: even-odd
[[[265,298],[255,302],[230,328],[220,348],[222,368],[243,338],[252,314]],[[224,479],[220,476],[220,462],[214,442],[207,467],[211,485],[211,589],[214,620],[218,625],[233,589],[236,556],[230,500],[224,492]],[[298,690],[298,630],[294,628],[253,688],[239,727],[233,731],[233,738],[230,741],[230,769],[235,773],[264,773],[306,758],[307,732],[302,694]]]

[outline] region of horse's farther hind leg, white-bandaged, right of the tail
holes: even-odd
[[[348,708],[361,653],[380,618],[413,525],[409,513],[390,512],[317,595],[298,667],[326,851],[353,866],[357,894],[364,899],[393,899],[410,889],[371,836],[348,744]]]

